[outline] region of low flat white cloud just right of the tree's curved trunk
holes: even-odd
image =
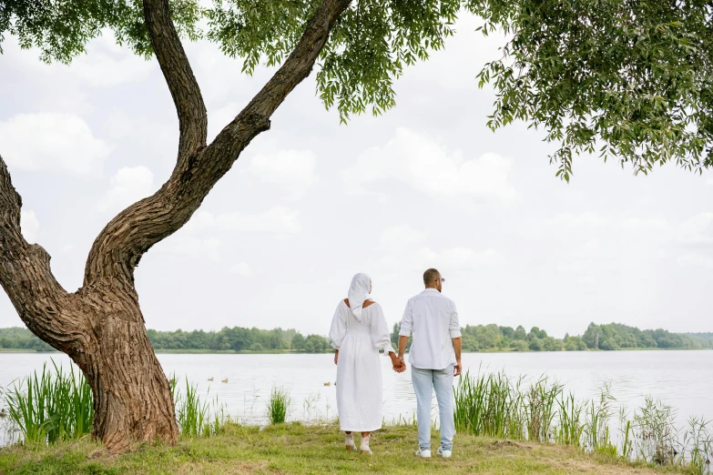
[[[257,215],[224,213],[215,215],[198,211],[186,225],[188,231],[219,229],[224,231],[266,234],[294,234],[300,232],[300,212],[286,207],[272,207]]]

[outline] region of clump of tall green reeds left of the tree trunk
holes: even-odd
[[[8,419],[29,443],[80,439],[91,432],[92,390],[74,365],[66,373],[52,361],[7,391]]]

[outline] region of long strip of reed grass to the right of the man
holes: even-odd
[[[687,430],[678,430],[673,409],[649,397],[631,419],[620,410],[617,438],[610,429],[616,399],[609,384],[598,398],[579,401],[546,377],[526,387],[524,381],[503,372],[463,375],[453,389],[456,429],[476,436],[564,444],[691,474],[710,473],[713,436],[705,419],[692,418]]]

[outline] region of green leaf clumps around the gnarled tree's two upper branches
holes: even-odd
[[[278,66],[297,45],[321,0],[170,0],[182,38],[208,39],[243,61],[251,74],[260,62]],[[5,34],[43,61],[69,63],[87,42],[112,32],[117,44],[141,56],[153,48],[139,0],[0,0],[0,46]],[[405,66],[427,59],[453,35],[461,0],[360,0],[351,2],[321,50],[317,93],[341,120],[394,106],[393,81]]]

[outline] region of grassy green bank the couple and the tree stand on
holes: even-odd
[[[437,443],[433,432],[433,444]],[[374,473],[390,475],[441,474],[656,474],[684,473],[653,468],[601,454],[584,454],[565,446],[492,440],[458,434],[453,459],[418,459],[416,428],[392,426],[372,435],[373,456],[343,449],[343,434],[336,426],[299,423],[268,426],[227,424],[210,438],[185,438],[176,447],[141,447],[110,456],[89,440],[43,448],[0,450],[0,473]]]

